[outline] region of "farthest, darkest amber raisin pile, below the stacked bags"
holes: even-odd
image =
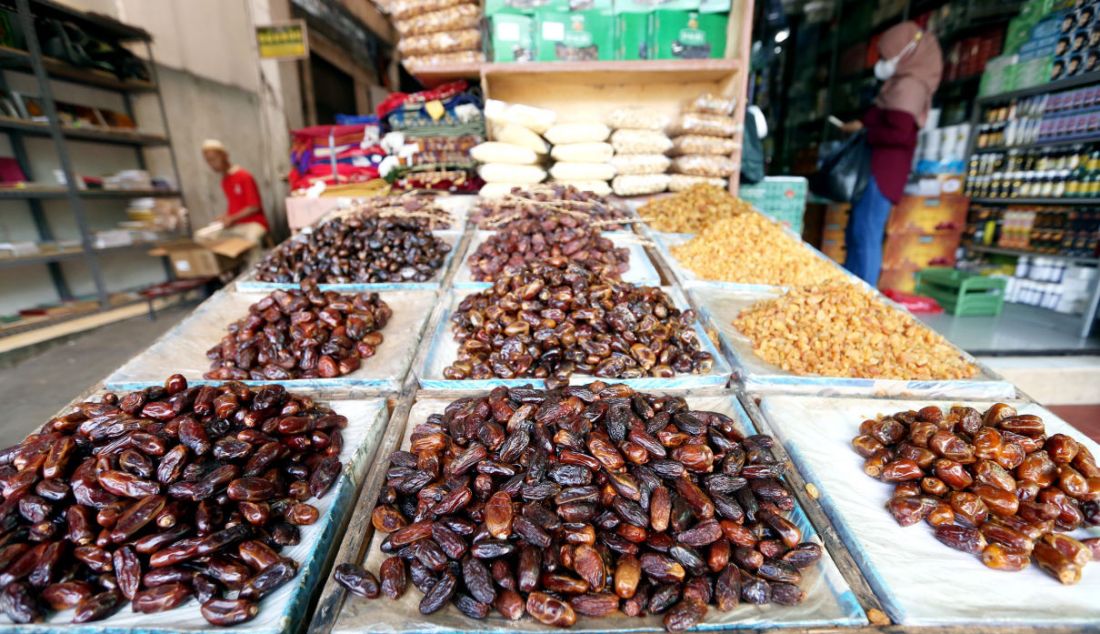
[[[695,185],[646,203],[638,208],[638,215],[658,231],[698,233],[715,220],[751,210],[751,205],[722,187]]]

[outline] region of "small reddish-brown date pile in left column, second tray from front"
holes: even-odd
[[[275,291],[249,306],[249,316],[207,350],[207,379],[283,381],[331,379],[374,356],[394,311],[377,293],[322,293],[307,280],[300,291]]]

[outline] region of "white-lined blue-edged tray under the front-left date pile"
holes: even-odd
[[[0,630],[19,634],[173,634],[182,632],[233,632],[234,634],[290,634],[308,617],[310,598],[322,580],[329,550],[338,544],[344,518],[355,503],[359,485],[370,463],[382,431],[386,425],[386,404],[382,398],[363,401],[329,401],[338,414],[348,417],[343,429],[344,447],[340,460],[344,463],[340,479],[329,493],[310,504],[320,511],[318,521],[301,526],[301,542],[284,548],[282,555],[298,562],[298,575],[260,602],[255,619],[232,627],[216,627],[199,612],[199,603],[189,599],[174,610],[154,614],[139,614],[124,604],[112,616],[102,621],[70,624],[73,610],[51,612],[41,623],[16,625],[0,615]]]

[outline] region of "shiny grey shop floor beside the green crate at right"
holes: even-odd
[[[1005,304],[996,317],[956,317],[946,313],[917,317],[975,356],[1100,351],[1100,327],[1093,327],[1092,336],[1081,339],[1080,317],[1033,306]]]

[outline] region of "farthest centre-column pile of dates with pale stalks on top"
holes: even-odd
[[[626,221],[632,217],[623,204],[593,192],[572,185],[536,185],[514,187],[502,198],[480,198],[470,221],[479,229],[495,230],[516,220],[553,215],[570,216],[607,231],[628,228]]]

